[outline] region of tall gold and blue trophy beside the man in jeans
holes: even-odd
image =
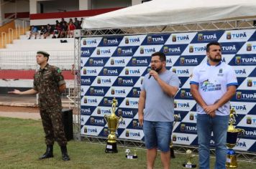
[[[239,141],[237,140],[238,135],[244,135],[245,133],[243,129],[234,127],[236,123],[235,115],[237,116],[237,113],[234,108],[232,108],[229,115],[229,127],[227,128],[227,147],[229,148],[227,150],[227,168],[237,168],[237,155],[232,148],[234,148]]]

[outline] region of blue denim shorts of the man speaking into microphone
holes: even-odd
[[[150,122],[144,120],[143,132],[147,149],[158,148],[162,152],[170,150],[170,136],[173,122]]]

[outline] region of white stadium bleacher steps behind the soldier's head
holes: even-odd
[[[49,63],[61,69],[70,69],[74,62],[74,39],[28,39],[29,32],[14,39],[12,44],[0,49],[1,69],[36,69],[35,54],[38,50],[45,50],[50,54]],[[62,43],[61,41],[65,41]]]

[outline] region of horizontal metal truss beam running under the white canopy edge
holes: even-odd
[[[115,34],[155,34],[155,33],[178,33],[178,32],[198,32],[227,29],[252,29],[256,28],[255,19],[236,19],[225,21],[204,21],[186,24],[170,24],[164,26],[143,26],[124,28],[101,28],[83,29],[81,37],[113,36]]]

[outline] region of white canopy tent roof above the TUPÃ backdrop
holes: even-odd
[[[255,0],[153,0],[84,19],[83,29],[163,26],[256,16]]]

